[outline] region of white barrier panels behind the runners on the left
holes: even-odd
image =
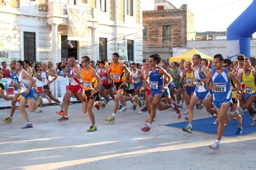
[[[37,84],[37,89],[39,93],[42,92],[42,81],[39,81],[37,78],[34,78],[34,79]],[[52,79],[54,79],[54,77],[52,77]],[[8,87],[8,84],[11,83],[12,79],[3,78],[1,79],[1,81],[2,81],[2,84],[4,85],[4,89],[6,93],[9,96],[14,96],[13,87],[10,87],[10,88]],[[51,92],[53,96],[58,98],[58,100],[62,101],[65,95],[65,92],[69,88],[69,79],[64,77],[59,77],[55,82],[51,84],[51,88],[53,89],[53,91]],[[49,104],[47,98],[42,98],[42,99],[43,99],[43,104]],[[71,102],[78,102],[78,100],[76,99],[76,97],[71,97]],[[52,100],[52,103],[55,103],[55,101]],[[16,105],[19,105],[19,102],[17,102]],[[0,107],[10,107],[10,106],[12,106],[11,100],[6,101],[2,97],[0,97]]]

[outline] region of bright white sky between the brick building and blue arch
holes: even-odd
[[[182,4],[189,6],[194,14],[194,30],[226,31],[226,28],[239,17],[253,0],[167,0],[176,8]],[[256,0],[255,0],[256,1]],[[254,34],[255,35],[255,34]],[[253,35],[253,36],[254,36]]]

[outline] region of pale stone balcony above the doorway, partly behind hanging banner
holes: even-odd
[[[67,24],[67,4],[50,2],[48,5],[47,12],[47,22],[48,23],[58,23],[58,24]],[[85,10],[87,12],[87,21],[88,22],[98,22],[98,10],[95,8],[89,8],[86,6],[77,6],[69,4],[75,9]]]

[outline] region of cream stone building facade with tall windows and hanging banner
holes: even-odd
[[[141,0],[3,0],[0,16],[1,61],[111,60],[114,52],[142,61]],[[70,38],[80,29],[85,36]]]

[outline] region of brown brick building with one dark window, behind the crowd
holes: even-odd
[[[187,46],[194,40],[194,15],[187,4],[179,9],[165,0],[155,0],[155,10],[143,11],[143,57],[158,53],[162,58],[173,56],[173,49]]]

